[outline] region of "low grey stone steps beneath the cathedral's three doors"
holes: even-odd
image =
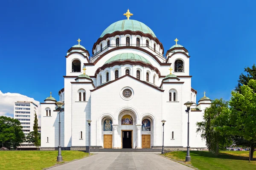
[[[91,148],[90,152],[161,152],[161,149],[99,149]]]

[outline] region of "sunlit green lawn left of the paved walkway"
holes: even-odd
[[[61,151],[63,161],[88,156],[73,150]],[[58,151],[0,151],[0,170],[41,170],[56,164]]]

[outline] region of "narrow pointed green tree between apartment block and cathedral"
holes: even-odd
[[[35,113],[33,131],[29,132],[29,134],[26,136],[26,141],[29,143],[35,144],[36,147],[39,147],[41,144],[40,134],[38,133],[38,119],[37,119],[36,113]]]

